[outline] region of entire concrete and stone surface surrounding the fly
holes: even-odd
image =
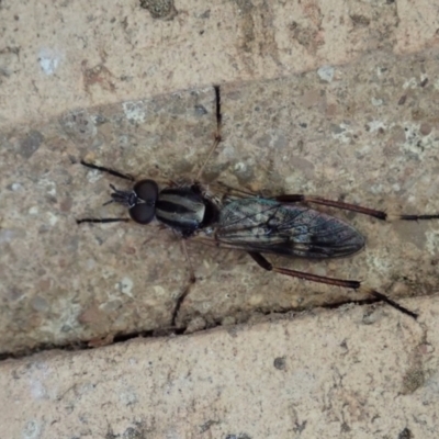
[[[418,323],[382,304],[318,311],[358,295],[192,243],[198,282],[178,324],[224,327],[155,338],[187,282],[179,243],[75,219],[121,212],[101,204],[123,182],[81,158],[192,177],[212,142],[212,83],[224,142],[204,182],[438,212],[438,11],[142,5],[0,3],[0,352],[45,351],[0,365],[0,437],[437,437],[438,223],[340,214],[367,251],[275,259],[364,280]],[[148,338],[81,351],[138,334]]]

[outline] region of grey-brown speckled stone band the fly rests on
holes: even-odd
[[[439,212],[438,55],[375,53],[347,67],[224,86],[224,142],[202,180],[219,178],[268,195],[314,193],[389,212]],[[190,179],[212,143],[213,109],[207,88],[69,111],[4,134],[3,352],[171,325],[188,283],[178,239],[155,225],[77,226],[78,217],[126,216],[123,207],[101,205],[110,182],[130,184],[79,160],[136,177]],[[365,251],[323,262],[271,259],[365,280],[394,297],[438,292],[438,222],[340,216],[368,236]],[[198,316],[207,326],[246,322],[255,312],[308,308],[354,294],[273,275],[236,251],[191,241],[188,248],[198,282],[179,326]]]

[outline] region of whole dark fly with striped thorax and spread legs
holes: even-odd
[[[274,254],[292,258],[329,259],[353,255],[364,247],[365,239],[354,227],[335,216],[311,209],[309,204],[337,207],[358,212],[382,221],[437,219],[439,213],[429,215],[389,215],[385,212],[362,207],[340,201],[326,200],[304,194],[282,194],[263,198],[258,194],[217,184],[216,191],[201,183],[203,170],[221,142],[221,93],[215,91],[216,133],[214,143],[196,178],[191,184],[169,184],[159,188],[150,179],[135,181],[133,177],[110,168],[81,161],[81,165],[133,182],[132,189],[119,190],[114,185],[111,201],[127,207],[128,217],[81,218],[82,223],[113,223],[134,221],[146,225],[156,219],[181,237],[183,252],[189,261],[189,285],[177,299],[171,317],[176,326],[179,311],[190,285],[195,281],[188,256],[185,239],[246,251],[264,270],[300,278],[307,281],[337,285],[368,294],[375,301],[383,301],[413,318],[417,314],[387,295],[375,291],[360,281],[327,278],[288,268],[275,267],[262,254]],[[109,204],[105,203],[105,204]]]

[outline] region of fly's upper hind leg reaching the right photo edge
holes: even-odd
[[[320,196],[311,196],[311,195],[303,195],[303,194],[286,194],[286,195],[279,195],[275,196],[274,200],[282,201],[285,203],[314,203],[326,205],[330,207],[337,207],[345,211],[351,212],[359,212],[364,215],[373,216],[379,219],[390,221],[390,219],[404,219],[404,221],[418,221],[418,219],[438,219],[439,213],[429,214],[429,215],[391,215],[383,211],[375,211],[374,209],[362,207],[356,204],[344,203],[342,201],[334,201],[334,200],[326,200]]]

